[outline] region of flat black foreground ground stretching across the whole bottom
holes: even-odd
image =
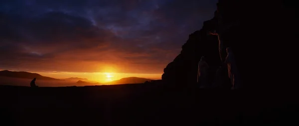
[[[296,90],[170,89],[162,84],[0,86],[0,126],[294,126]]]

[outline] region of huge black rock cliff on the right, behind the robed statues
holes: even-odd
[[[298,9],[290,7],[288,2],[219,0],[215,17],[189,35],[181,53],[164,69],[162,80],[182,85],[196,82],[201,56],[206,56],[210,66],[219,66],[217,36],[208,34],[216,30],[225,46],[233,50],[245,88],[280,87],[291,83],[294,75],[281,73],[288,73],[296,63],[298,21]],[[277,61],[279,57],[283,57],[283,61]]]

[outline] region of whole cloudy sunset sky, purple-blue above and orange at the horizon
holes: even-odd
[[[160,79],[216,2],[0,0],[0,69],[103,82],[107,73]]]

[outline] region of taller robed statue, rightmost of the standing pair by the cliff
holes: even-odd
[[[227,64],[227,69],[228,69],[228,76],[231,80],[231,83],[233,85],[233,89],[238,89],[241,88],[241,80],[240,80],[240,75],[236,66],[236,62],[235,62],[235,57],[234,54],[231,50],[231,48],[227,47],[226,48],[227,51],[227,57],[225,60],[225,63]]]

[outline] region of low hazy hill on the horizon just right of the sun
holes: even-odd
[[[103,85],[139,84],[139,83],[145,83],[146,81],[152,81],[152,80],[147,79],[147,78],[128,77],[128,78],[122,78],[122,79],[116,80],[116,81],[103,83]]]

